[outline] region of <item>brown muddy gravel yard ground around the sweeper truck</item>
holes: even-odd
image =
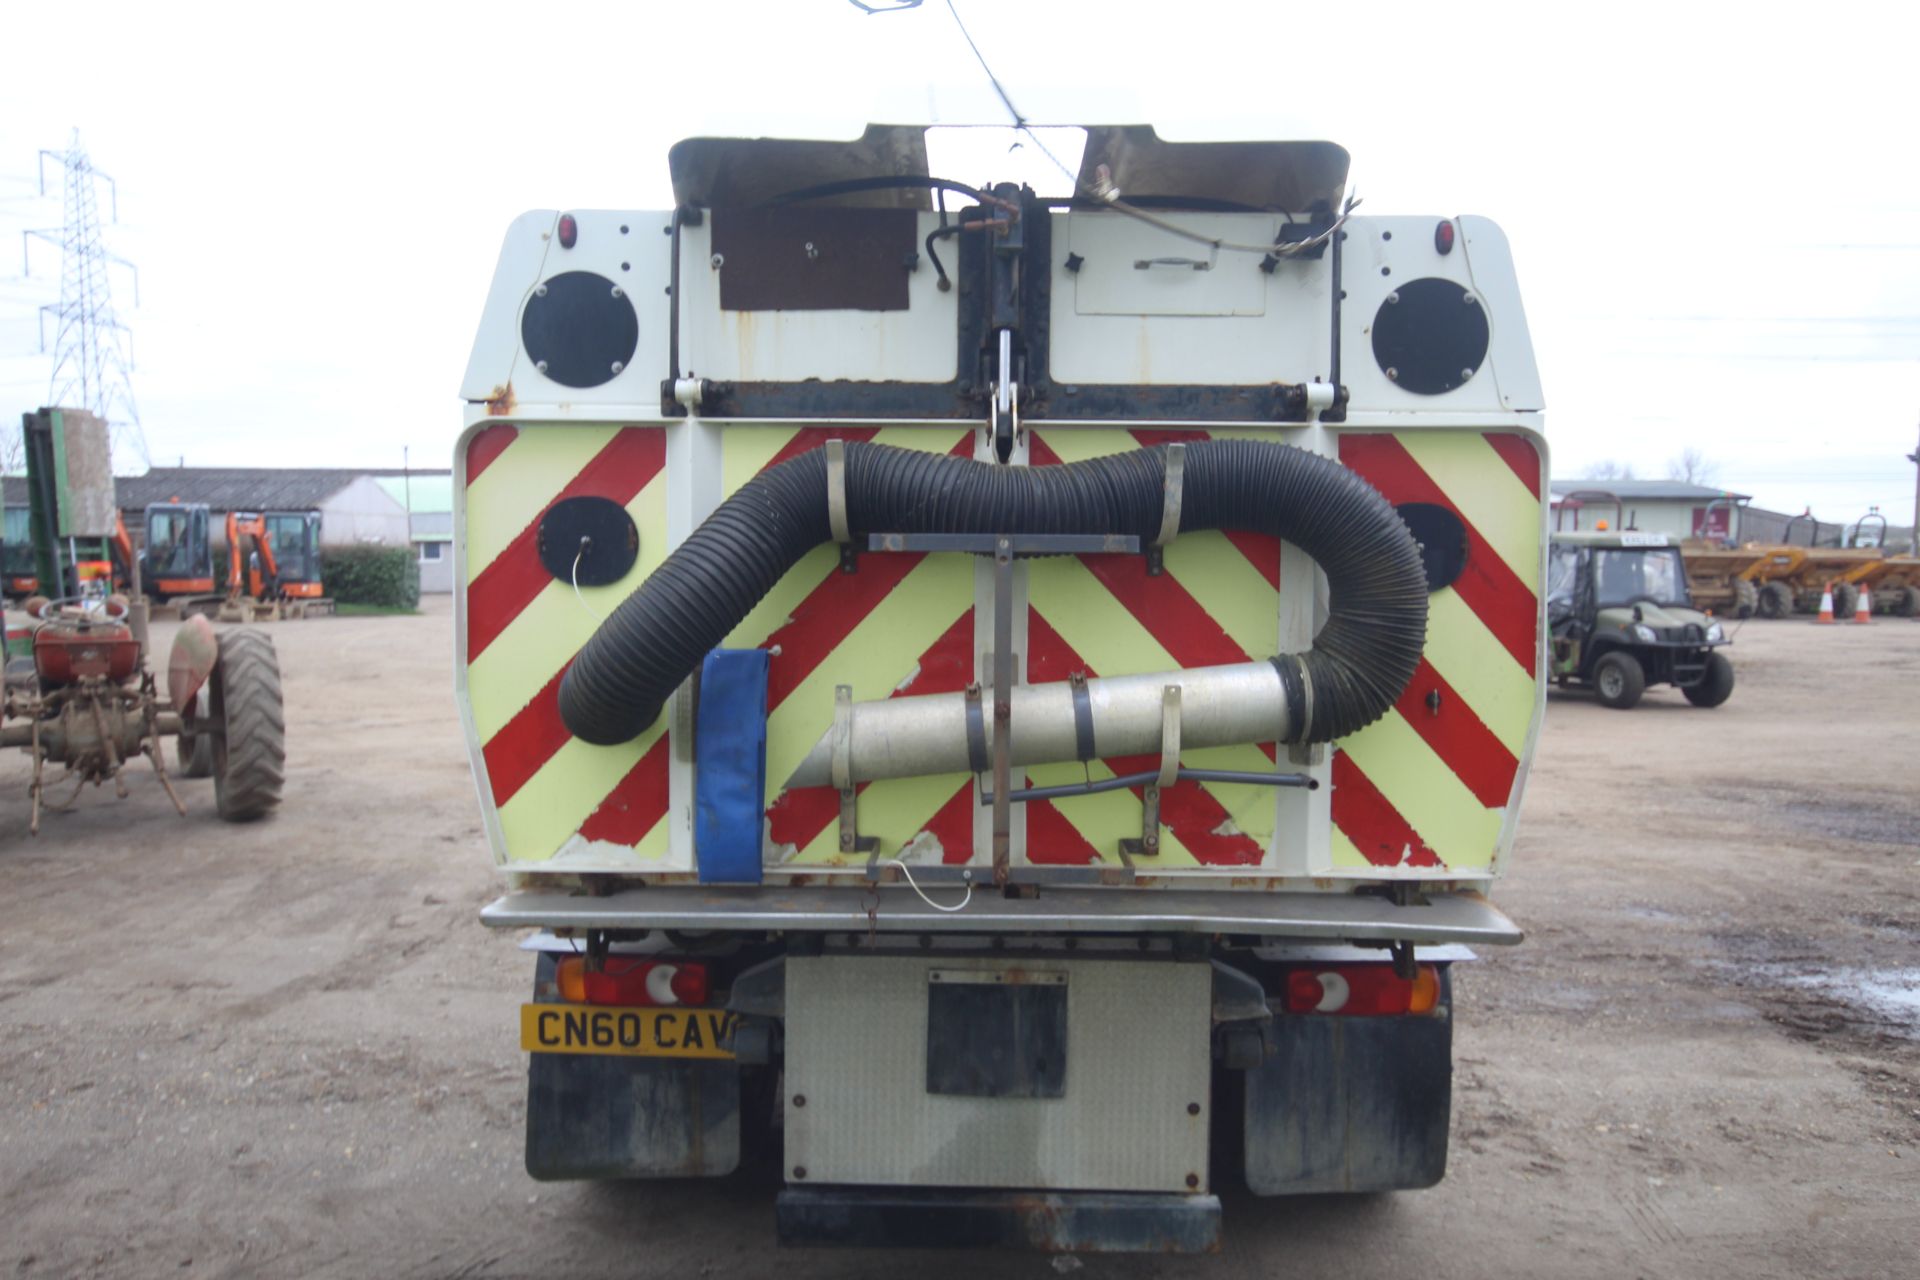
[[[770,1171],[530,1182],[449,608],[273,635],[267,823],[134,773],[29,839],[0,758],[0,1272],[1054,1274],[776,1253]],[[1528,938],[1459,973],[1440,1188],[1229,1190],[1223,1255],[1081,1274],[1912,1274],[1920,626],[1755,622],[1734,658],[1713,712],[1549,702],[1498,894]]]

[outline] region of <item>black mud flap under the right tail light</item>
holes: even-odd
[[[1430,1017],[1275,1013],[1246,1073],[1246,1186],[1256,1196],[1407,1192],[1446,1174],[1452,984]]]

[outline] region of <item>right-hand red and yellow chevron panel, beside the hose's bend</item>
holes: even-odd
[[[1400,702],[1336,745],[1332,865],[1486,873],[1540,702],[1540,453],[1517,432],[1356,432],[1340,461],[1396,507],[1459,516],[1467,564],[1430,597]]]

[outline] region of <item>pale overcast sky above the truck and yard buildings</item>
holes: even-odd
[[[1331,138],[1371,213],[1498,219],[1559,474],[1663,474],[1692,445],[1764,505],[1908,518],[1920,6],[960,12],[1033,119]],[[109,244],[140,265],[142,307],[117,303],[156,461],[445,464],[518,211],[664,207],[666,148],[695,132],[1002,119],[943,0],[84,15],[0,19],[0,401],[17,420],[46,391],[58,255],[35,246],[21,280],[17,230],[58,225],[35,154],[77,125],[119,180]],[[1050,173],[1025,159],[952,177]]]

